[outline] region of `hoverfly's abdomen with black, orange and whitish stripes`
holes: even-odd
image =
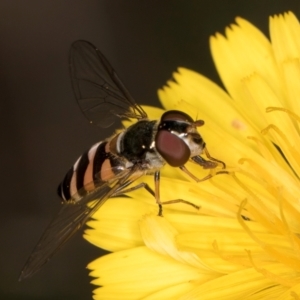
[[[69,200],[95,188],[95,182],[107,181],[115,176],[114,166],[120,161],[109,152],[109,142],[100,142],[80,156],[58,186],[58,195]],[[121,163],[122,165],[122,163]]]

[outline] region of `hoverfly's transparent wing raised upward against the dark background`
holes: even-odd
[[[120,116],[147,118],[105,56],[93,44],[87,41],[72,44],[70,72],[77,102],[91,123],[105,128]]]

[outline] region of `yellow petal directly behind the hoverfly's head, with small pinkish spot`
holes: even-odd
[[[234,108],[233,100],[215,83],[185,68],[179,68],[173,77],[176,83],[172,82],[158,91],[166,109],[177,107],[190,113],[193,118],[203,119],[206,124],[214,120],[222,131],[234,136],[245,138],[256,134]],[[187,111],[186,103],[193,109]]]

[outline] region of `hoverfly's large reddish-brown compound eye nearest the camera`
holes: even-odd
[[[187,144],[166,130],[161,130],[156,134],[155,145],[159,154],[172,167],[183,166],[191,155]]]

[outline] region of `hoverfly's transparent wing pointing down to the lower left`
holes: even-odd
[[[133,170],[126,170],[118,175],[116,183],[111,187],[102,182],[92,192],[81,197],[77,201],[69,201],[62,207],[49,224],[38,244],[28,258],[19,280],[32,276],[46,264],[50,258],[86,223],[105,201],[114,193],[120,193],[127,178],[133,174]],[[124,182],[125,179],[125,182]],[[77,195],[78,196],[78,195]],[[77,198],[77,197],[76,197]]]

